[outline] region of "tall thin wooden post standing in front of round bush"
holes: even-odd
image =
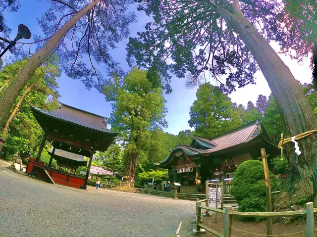
[[[264,168],[264,182],[266,187],[266,207],[267,212],[272,212],[272,196],[271,196],[271,180],[269,179],[269,170],[267,165],[267,157],[269,155],[266,155],[265,149],[261,148],[261,157],[258,159],[262,159],[263,161],[263,168]],[[267,229],[266,229],[266,235],[272,235],[272,218],[267,218]]]

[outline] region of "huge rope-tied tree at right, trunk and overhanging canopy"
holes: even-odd
[[[254,83],[254,73],[260,67],[280,111],[285,137],[317,128],[303,90],[268,44],[284,40],[284,32],[279,30],[283,17],[280,1],[139,1],[139,9],[153,14],[155,22],[148,23],[138,38],[130,38],[130,63],[133,57],[138,65],[155,63],[162,75],[170,71],[184,77],[189,71],[189,84],[210,73],[226,92]],[[282,208],[301,205],[303,199],[317,204],[316,138],[299,141],[300,156],[291,143],[284,146],[290,173],[283,196],[290,201],[280,201]]]

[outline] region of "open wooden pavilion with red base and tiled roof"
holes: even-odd
[[[118,133],[107,129],[105,117],[63,103],[53,111],[46,111],[33,105],[31,110],[44,130],[44,136],[36,158],[29,160],[26,173],[46,180],[49,175],[55,183],[86,189],[95,152],[106,151]],[[40,162],[46,141],[53,145],[48,166]],[[73,171],[86,162],[83,156],[89,157],[87,173],[74,174]],[[52,168],[53,158],[57,159],[59,167],[64,167],[66,170]]]

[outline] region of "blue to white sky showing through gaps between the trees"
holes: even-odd
[[[45,12],[48,2],[50,1],[20,0],[21,7],[18,12],[5,12],[4,18],[6,24],[13,30],[11,39],[14,39],[19,24],[28,26],[32,34],[41,34],[42,30],[37,25],[37,18],[40,18]],[[136,36],[137,32],[143,31],[145,24],[151,20],[144,13],[136,11],[136,14],[137,22],[130,27],[132,37]],[[26,40],[21,41],[26,42]],[[29,41],[31,42],[31,39]],[[115,61],[120,63],[125,71],[129,71],[129,67],[125,61],[126,44],[127,39],[120,42],[118,47],[111,51],[111,55]],[[278,52],[279,48],[276,44],[273,43],[271,46]],[[33,47],[33,49],[35,49],[35,47]],[[7,55],[9,55],[9,53],[6,54],[6,56]],[[302,64],[298,64],[297,61],[292,60],[289,56],[280,56],[297,80],[300,80],[303,83],[311,82],[309,60],[304,61]],[[105,97],[96,89],[88,91],[79,80],[70,79],[64,74],[57,80],[57,82],[59,85],[59,94],[61,95],[59,100],[61,102],[92,113],[106,117],[110,116],[110,103],[106,102]],[[190,119],[189,109],[196,99],[195,94],[197,88],[187,89],[184,86],[184,82],[184,79],[173,77],[171,81],[173,93],[171,95],[165,95],[165,99],[167,100],[166,107],[168,112],[166,114],[166,121],[168,123],[168,128],[164,129],[164,131],[175,135],[177,135],[179,131],[192,129],[189,127],[187,121]],[[255,103],[260,94],[268,96],[270,90],[261,71],[256,73],[256,82],[257,85],[248,85],[245,88],[237,89],[236,92],[229,95],[232,101],[246,106],[249,100]]]

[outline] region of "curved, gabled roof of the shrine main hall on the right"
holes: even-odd
[[[211,153],[215,151],[225,150],[227,148],[234,147],[242,143],[248,143],[253,139],[259,137],[263,132],[265,134],[265,136],[263,136],[263,140],[269,143],[274,148],[278,149],[277,146],[269,141],[269,138],[265,138],[266,133],[263,129],[262,122],[256,120],[211,139],[195,136],[191,144],[193,145],[195,142],[197,142],[201,146],[205,147],[205,149],[197,149],[190,145],[181,144],[174,148],[165,160],[156,165],[160,167],[168,165],[173,157],[175,155],[177,156],[180,150],[182,151],[182,153],[188,156],[197,156],[202,154],[208,156],[208,154],[211,155]]]

